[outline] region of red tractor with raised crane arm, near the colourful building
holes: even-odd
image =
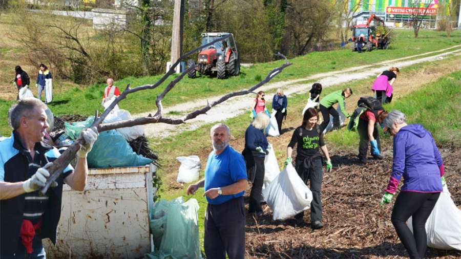
[[[375,26],[370,26],[371,21],[376,20],[378,23],[381,23],[384,26],[384,21],[380,17],[376,16],[374,13],[370,15],[367,20],[367,24],[355,25],[352,28],[352,38],[351,38],[351,49],[352,51],[357,50],[357,43],[359,41],[360,35],[363,34],[365,46],[367,51],[371,51],[373,47],[376,49],[387,50],[389,47],[389,40],[385,35],[379,35],[375,33]]]

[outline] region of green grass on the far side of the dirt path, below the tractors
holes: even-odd
[[[2,21],[4,15],[0,17]],[[2,26],[3,27],[3,26]],[[3,28],[5,30],[5,27]],[[440,50],[450,46],[461,44],[461,31],[455,31],[447,38],[443,32],[421,31],[420,37],[414,39],[411,30],[395,30],[396,40],[389,50],[375,50],[370,53],[358,54],[351,52],[347,47],[344,50],[329,52],[313,52],[305,56],[291,59],[292,66],[284,70],[280,75],[274,78],[274,81],[283,81],[287,79],[296,79],[306,77],[320,72],[340,70],[352,66],[363,64],[373,64],[393,58],[405,57],[415,54],[421,54],[428,51]],[[7,33],[7,32],[5,32]],[[12,66],[11,60],[15,55],[11,53],[23,53],[24,50],[17,49],[17,46],[4,47],[0,42],[0,50],[10,53],[5,55],[5,67]],[[197,79],[184,78],[176,87],[164,98],[163,105],[169,106],[185,101],[193,101],[196,98],[205,98],[216,96],[227,92],[248,88],[256,84],[260,78],[266,76],[267,72],[279,66],[282,61],[258,63],[249,68],[242,68],[242,73],[237,77],[231,77],[225,80],[201,76]],[[32,73],[31,76],[34,76]],[[132,87],[143,84],[154,83],[160,76],[133,78],[128,77],[116,81],[120,89],[124,89],[128,83]],[[172,78],[175,76],[172,76]],[[5,75],[7,78],[7,75]],[[9,78],[9,77],[8,77]],[[34,80],[31,78],[31,80]],[[171,80],[171,78],[170,78]],[[169,81],[169,80],[167,80]],[[166,82],[167,83],[167,82]],[[59,88],[60,82],[55,82],[57,89],[67,89],[65,91],[55,91],[54,101],[50,104],[51,110],[56,115],[79,114],[90,115],[95,110],[102,111],[100,100],[104,84],[95,84],[91,86],[78,85],[69,89]],[[122,109],[131,113],[140,113],[156,109],[155,99],[160,91],[163,90],[165,83],[158,89],[151,91],[142,91],[130,95],[120,103]],[[33,90],[35,93],[35,89]],[[1,95],[0,95],[1,96]],[[7,108],[14,100],[11,98],[0,98],[0,111],[2,118],[6,118]],[[9,132],[6,120],[0,120],[0,134]]]

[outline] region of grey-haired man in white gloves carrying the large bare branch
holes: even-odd
[[[56,228],[61,212],[62,185],[85,188],[88,172],[87,153],[97,133],[83,130],[85,145],[77,152],[75,170],[67,166],[45,196],[38,190],[45,186],[47,168],[60,155],[43,142],[48,128],[47,106],[38,99],[26,98],[14,103],[8,119],[13,133],[0,142],[0,257],[45,258],[41,239],[56,243]],[[53,186],[53,185],[52,185]]]

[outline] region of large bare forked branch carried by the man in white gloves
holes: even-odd
[[[171,66],[170,70],[166,72],[166,74],[163,75],[163,77],[155,82],[154,84],[148,84],[148,85],[142,85],[140,87],[136,88],[130,88],[130,84],[127,85],[127,88],[120,94],[119,97],[117,97],[112,104],[102,113],[101,116],[98,116],[97,111],[95,114],[94,122],[90,126],[94,130],[97,130],[98,132],[102,131],[108,131],[108,130],[113,130],[115,128],[122,128],[122,127],[129,127],[129,126],[134,126],[134,125],[142,125],[142,124],[149,124],[149,123],[167,123],[167,124],[181,124],[185,123],[187,120],[193,119],[197,117],[200,114],[205,114],[207,111],[212,109],[213,106],[216,106],[225,100],[234,97],[234,96],[240,96],[240,95],[245,95],[249,93],[253,93],[256,89],[261,87],[261,85],[269,82],[272,78],[274,78],[276,75],[281,73],[283,69],[286,67],[290,66],[291,63],[288,62],[288,60],[283,56],[282,54],[279,54],[279,56],[285,58],[285,63],[282,64],[282,66],[275,68],[271,70],[266,78],[259,82],[258,84],[254,85],[252,88],[249,88],[248,90],[242,90],[242,91],[237,91],[237,92],[232,92],[229,94],[224,95],[221,97],[219,100],[214,101],[212,103],[207,103],[202,109],[196,110],[194,112],[191,112],[187,115],[185,115],[183,118],[180,119],[173,119],[173,118],[168,118],[168,117],[163,117],[162,116],[162,111],[163,111],[163,106],[162,106],[162,100],[168,94],[178,83],[184,75],[186,75],[188,72],[192,71],[195,69],[195,66],[191,66],[187,68],[180,76],[176,77],[173,81],[171,81],[166,88],[163,90],[163,92],[157,96],[157,99],[155,101],[156,106],[157,106],[157,112],[154,116],[149,115],[146,117],[141,117],[141,118],[136,118],[136,119],[130,119],[130,120],[124,120],[124,121],[118,121],[118,122],[113,122],[113,123],[102,123],[106,116],[114,109],[115,105],[117,105],[121,100],[127,97],[127,95],[138,92],[138,91],[143,91],[143,90],[152,90],[156,89],[161,85],[166,78],[168,78],[170,75],[175,73],[175,68],[179,64],[181,60],[186,60],[188,56],[192,55],[193,53],[197,52],[198,50],[201,50],[203,48],[206,48],[208,46],[211,46],[215,44],[218,41],[222,41],[226,38],[228,38],[230,35],[226,35],[224,37],[218,38],[212,42],[209,42],[208,44],[205,44],[203,46],[200,46],[199,48],[196,48],[190,52],[185,53],[179,59]],[[48,170],[50,171],[50,178],[48,179],[45,187],[43,187],[40,190],[40,193],[42,195],[45,195],[47,192],[48,188],[51,186],[51,184],[59,177],[61,174],[62,170],[71,162],[71,160],[75,157],[78,149],[80,148],[81,144],[84,144],[85,140],[83,140],[82,135],[75,140],[75,142],[64,152],[62,153],[61,156],[59,156],[54,162],[53,165],[51,165]]]

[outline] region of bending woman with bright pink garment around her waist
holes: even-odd
[[[375,98],[380,100],[381,103],[389,103],[392,101],[392,92],[394,91],[392,84],[399,73],[399,68],[391,67],[374,80],[371,90],[376,95]]]

